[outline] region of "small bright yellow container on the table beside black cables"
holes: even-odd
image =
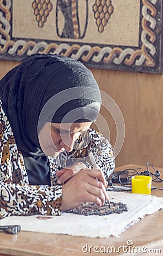
[[[132,193],[151,195],[152,177],[145,175],[132,176]]]

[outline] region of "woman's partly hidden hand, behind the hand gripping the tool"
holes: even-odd
[[[59,179],[57,180],[57,183],[58,184],[65,183],[65,181],[69,180],[70,177],[73,177],[79,171],[85,168],[87,168],[87,166],[84,163],[78,162],[73,164],[72,166],[62,168],[61,171],[56,171],[56,175],[59,177]]]

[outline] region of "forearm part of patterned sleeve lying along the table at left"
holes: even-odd
[[[0,218],[61,214],[61,185],[19,185],[0,182]]]

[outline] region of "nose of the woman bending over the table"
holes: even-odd
[[[79,133],[80,134],[80,133]],[[61,142],[60,146],[64,147],[66,151],[72,151],[74,147],[74,142],[77,140],[79,137],[78,133],[73,133],[73,134],[62,134],[61,135]]]

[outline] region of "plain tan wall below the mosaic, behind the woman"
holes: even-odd
[[[0,78],[17,64],[0,60]],[[116,166],[145,165],[149,161],[163,167],[163,75],[93,68],[91,71],[101,90],[114,99],[124,117],[126,137],[116,157]],[[105,108],[101,109],[101,114],[107,120],[114,146],[114,119]]]

